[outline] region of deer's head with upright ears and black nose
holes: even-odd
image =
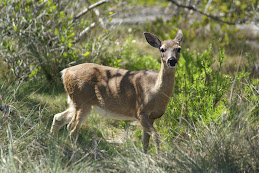
[[[155,35],[147,32],[144,35],[147,42],[161,52],[161,60],[165,67],[174,68],[180,58],[180,44],[183,40],[182,30],[178,30],[173,40],[160,41]]]

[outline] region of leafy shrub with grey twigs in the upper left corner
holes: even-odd
[[[95,21],[95,16],[89,15],[73,20],[74,13],[89,5],[83,3],[80,8],[75,8],[78,3],[67,0],[1,2],[0,54],[5,56],[3,65],[11,67],[6,76],[10,71],[15,79],[44,76],[55,83],[61,69],[70,63],[86,60],[88,55],[85,52],[99,54],[101,47],[89,50],[92,44],[88,45],[87,50],[82,49],[84,52],[78,48],[85,38],[80,35],[81,31]],[[105,37],[108,34],[102,32],[105,29],[96,30],[84,42],[101,45],[95,38],[100,35]]]

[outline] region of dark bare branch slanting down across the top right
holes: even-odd
[[[213,20],[216,20],[216,21],[218,21],[218,22],[225,23],[225,24],[228,24],[228,25],[236,25],[236,24],[240,24],[240,23],[245,23],[245,22],[246,22],[245,20],[244,20],[244,21],[236,21],[236,22],[225,21],[225,20],[220,19],[218,16],[214,16],[214,15],[212,15],[212,14],[206,13],[205,10],[204,10],[204,12],[203,12],[203,11],[200,11],[200,10],[197,9],[194,5],[184,5],[184,4],[180,4],[180,3],[178,3],[178,2],[175,1],[175,0],[170,0],[170,2],[174,3],[177,7],[180,7],[180,8],[187,8],[187,9],[189,9],[189,10],[196,11],[196,12],[202,14],[202,15],[207,16],[208,18],[211,18],[211,19],[213,19]]]

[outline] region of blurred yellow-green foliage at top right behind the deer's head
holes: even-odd
[[[168,0],[170,2],[170,0]],[[178,1],[176,1],[178,2]],[[210,3],[209,3],[210,2]],[[178,28],[184,30],[184,47],[191,50],[203,51],[211,42],[219,49],[226,49],[227,55],[239,56],[243,52],[253,52],[258,59],[259,54],[256,48],[246,46],[248,40],[256,41],[256,36],[251,36],[252,30],[240,30],[234,23],[246,24],[257,23],[258,16],[257,1],[191,1],[183,0],[178,3],[186,6],[194,6],[198,11],[207,14],[202,15],[195,10],[179,8],[174,3],[170,6],[172,18],[165,21],[163,17],[157,18],[155,22],[147,22],[145,30],[168,39],[175,36]],[[208,16],[215,16],[210,18]],[[220,19],[220,22],[218,19]],[[225,22],[231,24],[227,24]],[[242,49],[240,49],[242,47]]]

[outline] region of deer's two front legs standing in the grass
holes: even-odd
[[[155,128],[153,127],[154,120],[150,120],[147,115],[142,114],[142,115],[140,115],[140,123],[143,127],[142,143],[143,143],[144,153],[147,153],[150,134],[151,134],[155,147],[156,147],[156,153],[158,154],[159,153],[159,137],[158,137],[158,134],[157,134]]]

